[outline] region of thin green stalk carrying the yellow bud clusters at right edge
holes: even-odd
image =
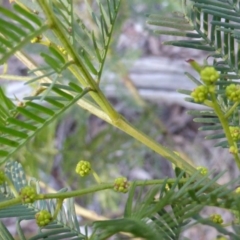
[[[230,133],[227,118],[224,116],[224,113],[222,112],[214,93],[211,94],[211,98],[212,98],[212,102],[213,102],[214,111],[217,114],[218,119],[221,122],[221,125],[222,125],[223,130],[224,130],[225,135],[226,135],[226,138],[228,140],[228,143],[229,143],[230,146],[235,146],[236,143],[233,141],[232,135]],[[234,153],[233,156],[234,156],[234,159],[235,159],[235,162],[236,162],[238,168],[240,169],[240,159],[239,159],[238,153]]]

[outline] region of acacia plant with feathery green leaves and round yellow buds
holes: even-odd
[[[26,84],[37,85],[35,93],[21,102],[12,101],[0,90],[0,163],[3,166],[0,218],[17,218],[19,238],[26,239],[21,221],[35,218],[39,231],[30,239],[108,239],[118,233],[130,238],[179,239],[184,230],[196,224],[212,226],[221,235],[239,239],[240,191],[233,188],[239,179],[217,184],[223,173],[211,178],[212,171],[189,164],[174,149],[142,133],[114,109],[101,90],[103,67],[121,0],[98,0],[91,4],[85,1],[94,26],[76,14],[71,0],[10,2],[13,2],[12,10],[0,7],[0,64],[6,67],[8,59],[16,56],[29,69],[31,80]],[[209,63],[207,58],[203,65],[190,59],[197,77],[187,76],[196,83],[196,89],[181,92],[189,95],[187,100],[209,107],[209,110],[190,113],[199,116],[195,121],[208,123],[201,130],[222,131],[208,139],[222,138],[218,146],[229,148],[236,166],[240,167],[239,3],[236,0],[183,0],[182,4],[182,13],[169,18],[155,13],[149,16],[148,23],[174,29],[157,30],[160,34],[187,39],[167,44],[204,50],[214,59]],[[44,64],[36,64],[23,51],[31,44],[41,46],[39,54]],[[42,193],[38,181],[26,177],[21,164],[12,157],[74,104],[170,161],[175,178],[129,182],[123,176],[105,183],[94,172],[91,161],[81,160],[73,171],[81,177],[93,173],[96,185],[75,191],[60,189],[56,193]],[[138,198],[135,198],[136,190],[147,185],[151,189],[144,194],[137,191]],[[80,231],[74,197],[103,190],[128,194],[123,216],[95,221],[89,228],[91,231],[87,228]],[[234,221],[223,223],[218,215],[201,217],[205,206],[228,209],[234,214]],[[232,226],[232,230],[226,229],[227,225]],[[0,238],[13,239],[3,222]]]

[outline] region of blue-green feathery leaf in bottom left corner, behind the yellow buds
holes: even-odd
[[[24,170],[20,163],[14,161],[8,162],[5,166],[5,173],[12,181],[17,191],[20,191],[22,187],[31,184],[31,186],[35,185],[37,192],[39,193],[40,187],[38,185],[38,182],[35,179],[30,179],[29,181],[26,179]],[[66,191],[66,189],[62,189],[61,191]],[[13,193],[6,184],[1,186],[0,202],[6,201],[13,197]],[[74,240],[85,239],[85,236],[80,232],[73,199],[67,199],[65,202],[66,203],[59,212],[57,219],[51,222],[49,225],[39,229],[39,232],[35,236],[30,238],[31,240],[44,238]],[[39,200],[33,204],[18,204],[15,206],[0,209],[0,218],[17,217],[18,221],[16,222],[16,227],[19,237],[21,237],[21,239],[26,239],[23,233],[23,229],[21,227],[21,221],[34,219],[35,214],[43,209],[48,209],[53,215],[55,206],[55,200]],[[4,230],[5,226],[3,224],[0,224],[0,229],[1,228]],[[1,234],[5,234],[9,237],[9,239],[12,239],[7,229],[5,229],[4,231],[5,232],[1,232]]]

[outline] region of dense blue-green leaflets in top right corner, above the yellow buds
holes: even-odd
[[[165,18],[153,14],[149,16],[148,23],[176,29],[173,31],[156,30],[156,33],[185,37],[184,40],[168,41],[164,44],[210,52],[213,57],[222,58],[224,63],[237,73],[236,45],[234,44],[234,42],[238,43],[239,14],[237,9],[234,9],[230,2],[223,3],[220,0],[182,2],[185,10],[183,14]],[[189,5],[191,5],[190,12],[188,11]]]

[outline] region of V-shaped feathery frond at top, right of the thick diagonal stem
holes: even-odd
[[[17,0],[16,2],[26,4],[25,6],[29,6],[31,12],[38,9],[42,13],[37,1],[31,2],[31,4],[27,4],[25,0]],[[67,36],[68,42],[74,49],[82,67],[89,71],[97,82],[100,81],[102,75],[120,2],[121,0],[96,1],[98,11],[95,11],[93,10],[94,6],[85,1],[91,16],[92,29],[91,26],[89,27],[89,23],[86,23],[74,11],[72,1],[52,1],[51,4],[51,11],[54,13],[54,18],[56,18],[62,34]],[[61,46],[61,38],[52,34],[52,32],[48,31],[43,35],[51,43]],[[64,46],[61,47],[64,48]],[[67,54],[70,54],[70,52],[67,52]]]

